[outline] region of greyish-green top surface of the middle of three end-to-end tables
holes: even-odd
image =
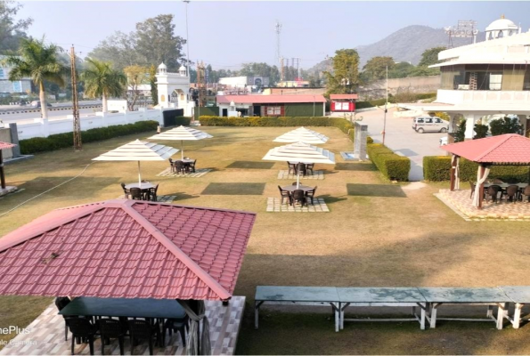
[[[417,287],[337,288],[341,303],[425,303]]]

